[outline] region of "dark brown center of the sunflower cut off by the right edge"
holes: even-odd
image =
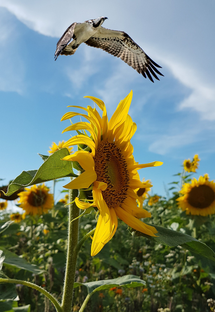
[[[208,185],[199,185],[189,192],[187,201],[195,208],[209,207],[215,199],[215,193]]]

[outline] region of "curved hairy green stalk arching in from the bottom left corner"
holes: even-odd
[[[43,289],[42,287],[40,287],[36,284],[27,282],[25,280],[14,280],[14,279],[7,279],[7,278],[0,278],[0,283],[21,284],[21,285],[25,285],[25,286],[34,288],[34,289],[40,291],[42,294],[44,294],[53,303],[57,312],[63,312],[59,302],[48,291],[46,291],[45,289]]]

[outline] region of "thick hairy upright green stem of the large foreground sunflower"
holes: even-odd
[[[63,312],[71,312],[73,289],[75,280],[75,270],[78,258],[78,238],[79,238],[79,208],[76,206],[74,199],[77,195],[77,190],[69,190],[69,202],[73,202],[69,206],[69,228],[68,228],[68,247],[66,259],[66,272],[64,279],[62,310]]]

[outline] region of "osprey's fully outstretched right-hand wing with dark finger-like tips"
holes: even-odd
[[[152,61],[126,32],[100,27],[96,37],[90,37],[85,43],[88,46],[100,48],[114,56],[120,57],[122,61],[136,69],[139,74],[142,74],[145,78],[147,75],[152,82],[154,81],[151,75],[157,80],[160,79],[155,73],[163,76],[156,68],[162,67]]]

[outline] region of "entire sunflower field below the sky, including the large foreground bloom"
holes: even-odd
[[[110,120],[89,98],[102,116],[91,106],[65,113],[87,122],[0,188],[0,311],[215,311],[215,183],[194,177],[196,154],[165,195],[151,195],[137,170],[162,163],[134,160],[132,92]],[[64,177],[54,202],[45,183]]]

